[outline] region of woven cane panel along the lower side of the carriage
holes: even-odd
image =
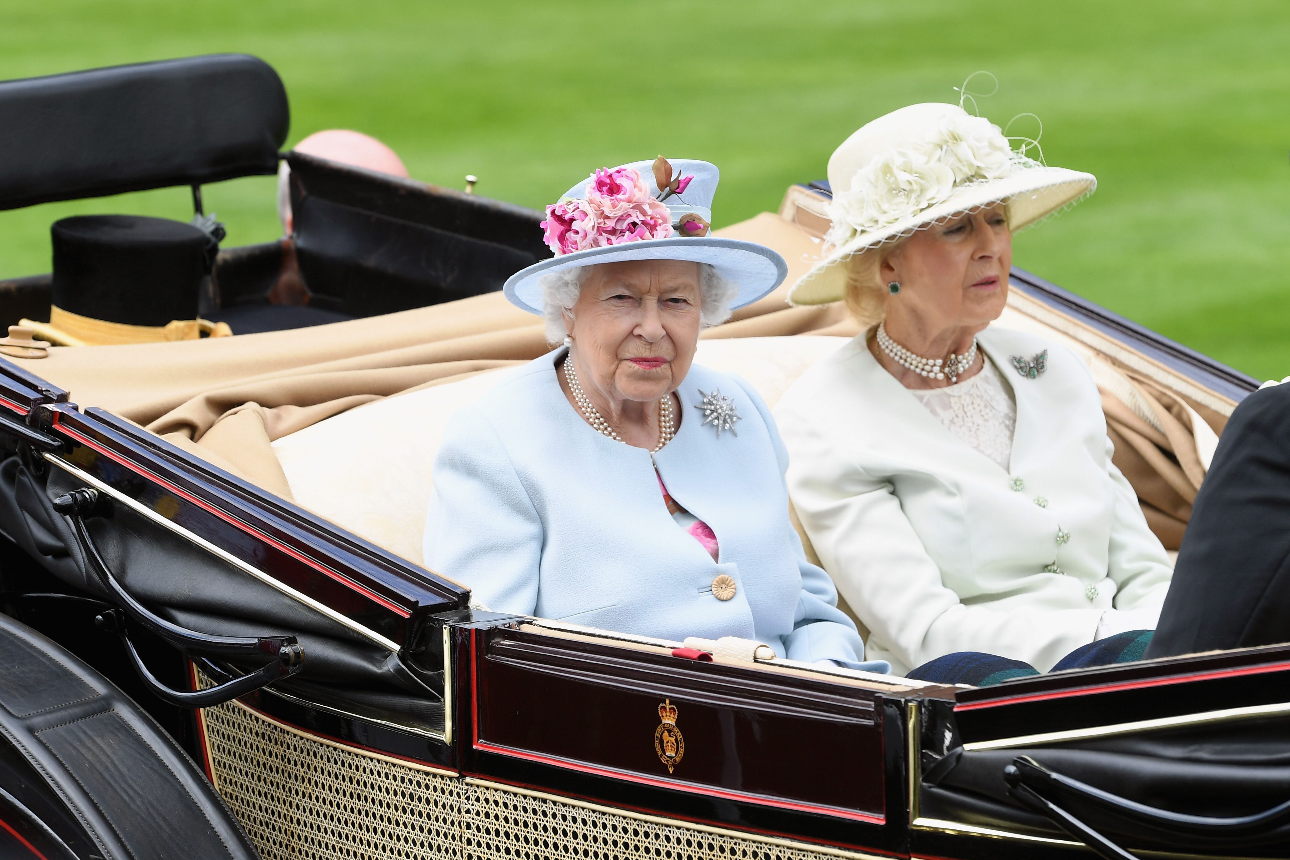
[[[205,726],[217,788],[264,860],[817,860],[841,854],[472,784],[333,747],[233,703],[208,708]]]

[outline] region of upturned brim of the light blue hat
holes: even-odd
[[[516,307],[529,313],[542,313],[541,279],[543,275],[580,266],[650,259],[708,263],[717,269],[721,277],[739,285],[739,294],[730,302],[731,309],[762,298],[779,286],[788,275],[788,264],[784,258],[765,245],[719,236],[673,236],[608,248],[591,248],[544,259],[507,279],[502,291]]]

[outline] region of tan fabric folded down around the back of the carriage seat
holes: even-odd
[[[788,263],[788,277],[729,322],[704,331],[704,338],[853,337],[859,331],[841,303],[793,308],[786,300],[788,286],[818,259],[818,237],[773,213],[717,235],[774,248]],[[548,348],[534,316],[511,306],[501,293],[490,293],[293,331],[55,347],[48,358],[28,364],[70,391],[81,407],[107,409],[292,499],[273,440],[355,406],[529,361]],[[1157,383],[1131,379],[1160,416],[1143,420],[1115,396],[1104,397],[1116,463],[1138,489],[1148,521],[1166,547],[1176,547],[1204,477],[1191,418],[1186,404]],[[1215,423],[1215,416],[1206,418]]]

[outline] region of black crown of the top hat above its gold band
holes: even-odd
[[[218,242],[192,224],[143,215],[54,222],[53,303],[95,320],[164,326],[197,318]]]

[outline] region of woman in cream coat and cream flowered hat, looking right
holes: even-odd
[[[1095,179],[953,104],[869,122],[828,175],[832,249],[791,300],[846,299],[867,330],[775,416],[793,504],[869,655],[968,683],[1139,659],[1171,567],[1111,462],[1093,376],[1057,343],[987,327],[1013,232]]]

